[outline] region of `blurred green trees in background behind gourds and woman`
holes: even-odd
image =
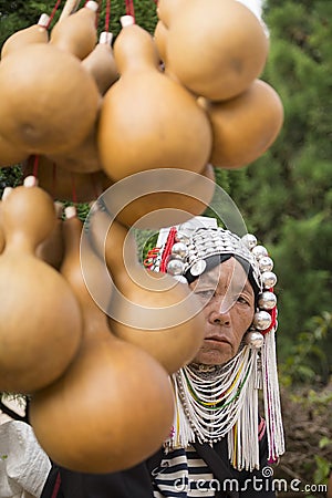
[[[42,12],[51,13],[54,3],[0,0],[0,45],[14,31],[37,22]],[[134,0],[134,6],[136,22],[153,32],[155,2]],[[104,3],[101,7],[102,31]],[[124,13],[125,1],[112,0],[114,37]],[[284,124],[258,160],[239,170],[216,170],[218,184],[237,204],[248,230],[273,257],[281,382],[293,388],[328,384],[331,376],[331,1],[266,1],[270,53],[261,79],[279,93]],[[0,170],[0,187],[15,185],[19,176],[19,168]],[[331,403],[331,395],[328,398]],[[326,458],[319,456],[314,467],[318,474],[325,469],[324,478]]]

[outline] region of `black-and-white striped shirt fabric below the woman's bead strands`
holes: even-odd
[[[214,475],[191,446],[169,452],[152,474],[154,498],[210,498],[218,489]]]

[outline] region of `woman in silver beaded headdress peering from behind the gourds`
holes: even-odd
[[[176,415],[169,439],[121,473],[54,466],[42,498],[276,496],[269,464],[283,453],[283,432],[273,263],[253,236],[240,238],[199,218],[194,229],[191,222],[164,230],[152,263],[193,289],[206,323],[194,361],[172,376]]]

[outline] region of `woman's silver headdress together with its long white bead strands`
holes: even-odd
[[[218,227],[216,219],[196,217],[178,227],[162,229],[157,247],[145,264],[188,283],[210,269],[212,257],[225,255],[245,261],[249,268],[248,278],[250,276],[257,294],[253,321],[238,354],[225,366],[216,367],[214,375],[206,376],[209,369],[197,371],[197,365],[186,365],[173,375],[177,419],[166,447],[186,447],[194,440],[216,443],[227,435],[232,465],[252,470],[259,468],[259,428],[256,423],[259,390],[263,392],[269,461],[276,461],[284,452],[274,341],[278,322],[273,287],[277,276],[272,272],[272,259],[253,235],[239,237]],[[204,384],[205,396],[207,383],[215,397],[219,392],[219,408],[211,411],[211,400],[208,398],[204,402],[206,408],[204,403],[203,406],[197,405],[199,382]],[[225,383],[231,385],[226,392]],[[196,393],[195,400],[193,392]],[[193,412],[197,407],[200,417]],[[214,423],[208,426],[211,414]]]

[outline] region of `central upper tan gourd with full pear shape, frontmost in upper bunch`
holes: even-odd
[[[105,173],[114,181],[154,168],[200,173],[211,148],[209,122],[193,95],[159,71],[152,35],[125,25],[114,58],[121,77],[104,95],[97,136]]]

